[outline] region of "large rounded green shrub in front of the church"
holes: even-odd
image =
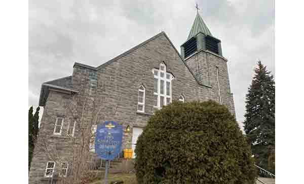
[[[235,117],[214,101],[173,102],[139,136],[138,183],[254,183],[255,168]]]

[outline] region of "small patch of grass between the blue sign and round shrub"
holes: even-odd
[[[123,180],[124,184],[137,184],[136,176],[134,173],[132,174],[117,173],[117,174],[108,175],[108,183],[116,180]],[[91,182],[90,184],[100,184],[100,183],[101,183],[101,179]]]

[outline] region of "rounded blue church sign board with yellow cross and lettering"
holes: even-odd
[[[123,129],[115,121],[105,121],[97,126],[95,153],[104,160],[113,160],[121,151]]]

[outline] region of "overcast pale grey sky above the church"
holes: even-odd
[[[74,62],[99,66],[165,31],[175,47],[200,15],[222,42],[237,120],[256,60],[275,72],[274,1],[29,1],[28,103],[38,105],[41,84],[70,76]]]

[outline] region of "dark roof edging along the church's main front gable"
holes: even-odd
[[[185,63],[185,61],[183,60],[183,58],[181,57],[181,55],[179,54],[179,52],[177,51],[177,49],[175,48],[175,46],[173,45],[173,43],[171,42],[171,40],[169,39],[169,37],[167,36],[167,34],[166,34],[164,31],[162,31],[161,33],[159,33],[159,34],[157,34],[157,35],[155,35],[155,36],[153,36],[153,37],[147,39],[146,41],[144,41],[144,42],[142,42],[142,43],[136,45],[135,47],[133,47],[133,48],[127,50],[126,52],[124,52],[124,53],[122,53],[122,54],[120,54],[120,55],[118,55],[118,56],[116,56],[116,57],[114,57],[114,58],[108,60],[108,62],[106,62],[106,63],[100,65],[99,67],[92,67],[92,66],[88,66],[88,65],[84,65],[84,64],[76,63],[76,62],[74,63],[73,67],[74,67],[74,66],[80,66],[80,67],[88,68],[88,69],[91,69],[91,70],[98,70],[98,69],[104,68],[105,66],[107,66],[107,65],[109,65],[109,64],[111,64],[111,63],[113,63],[113,62],[116,62],[116,61],[117,61],[118,59],[120,59],[121,57],[123,57],[123,56],[125,56],[125,55],[131,53],[132,51],[134,51],[134,50],[140,48],[141,46],[147,44],[148,42],[150,42],[150,41],[152,41],[152,40],[154,40],[154,39],[156,39],[156,38],[158,38],[159,36],[162,36],[162,35],[165,36],[165,37],[167,38],[167,40],[169,41],[169,43],[171,44],[171,46],[174,48],[174,50],[176,51],[176,53],[178,54],[178,56],[180,57],[180,59],[182,60],[182,62],[184,63],[184,65],[187,67],[188,71],[192,74],[192,76],[193,76],[193,77],[195,78],[195,80],[198,82],[198,84],[199,84],[199,85],[202,85],[202,86],[205,86],[205,87],[208,87],[208,88],[211,88],[211,86],[207,86],[207,85],[204,85],[204,84],[202,84],[202,83],[199,82],[199,80],[195,77],[195,75],[193,74],[193,72],[192,72],[192,71],[190,70],[190,68],[187,66],[187,64]]]

